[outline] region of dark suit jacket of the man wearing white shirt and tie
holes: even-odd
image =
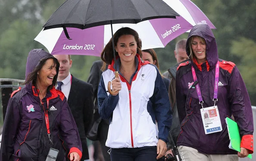
[[[86,133],[89,132],[93,121],[94,100],[92,85],[72,75],[68,104],[82,142],[83,155],[81,161],[83,161],[89,159]]]

